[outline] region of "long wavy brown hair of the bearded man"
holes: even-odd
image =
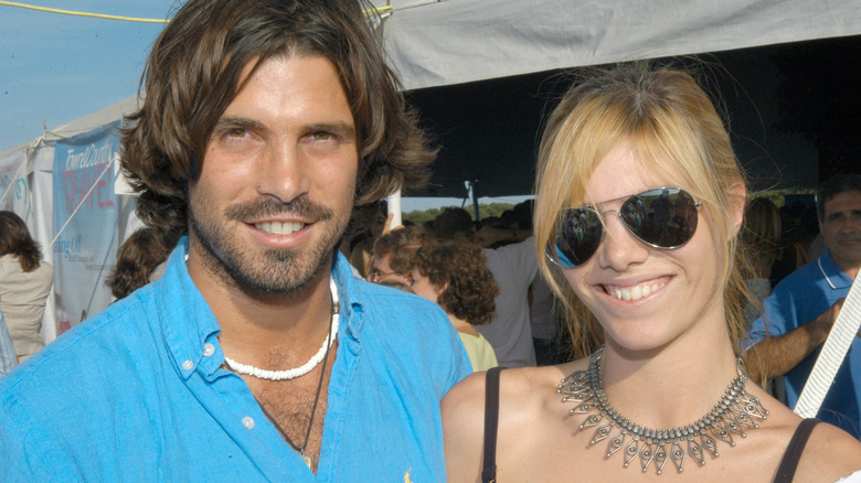
[[[156,41],[141,80],[146,98],[123,132],[121,165],[147,225],[168,239],[185,233],[188,183],[243,87],[243,69],[293,54],[326,57],[338,69],[359,140],[355,205],[427,180],[435,151],[358,1],[190,0]]]

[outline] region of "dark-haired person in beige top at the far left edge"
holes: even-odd
[[[0,212],[0,308],[20,362],[45,346],[40,331],[54,270],[41,260],[24,221]]]

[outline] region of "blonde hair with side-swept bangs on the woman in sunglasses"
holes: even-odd
[[[621,142],[634,150],[646,172],[674,180],[715,221],[723,264],[714,297],[724,288],[727,328],[737,351],[744,335],[744,257],[730,234],[734,200],[729,189],[744,183],[730,136],[709,96],[694,78],[646,62],[592,71],[553,110],[539,148],[534,225],[539,267],[562,300],[574,354],[585,356],[603,343],[594,315],[580,302],[561,270],[544,256],[554,243],[559,214],[589,198],[587,184],[598,163]],[[701,214],[703,211],[701,210]]]

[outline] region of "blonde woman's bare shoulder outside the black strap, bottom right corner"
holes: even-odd
[[[861,442],[842,429],[820,422],[798,462],[796,481],[835,482],[861,470]]]

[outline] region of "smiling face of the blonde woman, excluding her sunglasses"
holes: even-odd
[[[648,351],[699,333],[693,328],[725,330],[723,288],[716,287],[723,251],[709,212],[699,210],[693,237],[677,249],[645,245],[609,212],[633,194],[663,186],[690,190],[648,173],[627,143],[610,150],[587,183],[593,198],[586,203],[604,214],[604,239],[591,259],[563,272],[604,328],[608,345]]]

